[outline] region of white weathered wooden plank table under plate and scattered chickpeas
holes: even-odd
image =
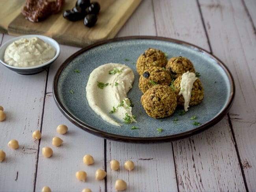
[[[61,55],[50,70],[23,76],[0,65],[0,105],[6,120],[0,122],[0,191],[114,191],[124,179],[126,191],[256,191],[256,1],[255,0],[144,0],[118,37],[155,35],[180,39],[208,50],[230,69],[236,96],[230,112],[215,126],[189,138],[158,144],[116,142],[91,135],[74,126],[54,102],[52,80],[58,67],[80,48],[61,45]],[[13,38],[0,34],[0,43]],[[58,135],[56,127],[69,131]],[[32,132],[41,129],[34,141]],[[61,147],[51,144],[61,137]],[[7,143],[17,139],[18,150]],[[51,158],[41,149],[50,146]],[[93,155],[95,164],[82,158]],[[110,170],[109,161],[121,163]],[[135,163],[124,170],[126,160]],[[108,173],[95,181],[98,168]],[[87,172],[87,181],[75,173]]]

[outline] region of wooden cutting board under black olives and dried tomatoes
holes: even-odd
[[[0,31],[9,35],[46,35],[60,44],[84,47],[97,41],[115,37],[126,20],[132,15],[141,0],[96,0],[100,4],[98,21],[92,28],[83,25],[83,20],[71,22],[63,18],[63,11],[72,9],[76,0],[65,0],[58,14],[37,23],[24,18],[21,9],[26,0],[0,0]],[[92,0],[93,2],[93,0]]]

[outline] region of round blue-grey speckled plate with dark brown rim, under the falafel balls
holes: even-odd
[[[139,75],[136,61],[149,47],[167,53],[168,59],[175,56],[189,58],[200,73],[205,89],[204,100],[180,115],[178,107],[168,118],[149,117],[140,103]],[[134,107],[137,123],[113,126],[98,116],[89,107],[85,87],[89,74],[105,63],[122,63],[134,71],[133,88],[128,92]],[[74,72],[79,70],[80,72]],[[156,142],[186,137],[219,122],[230,109],[235,93],[232,75],[226,66],[205,50],[186,42],[163,37],[121,37],[98,42],[71,55],[59,68],[53,81],[54,99],[61,112],[76,126],[100,137],[127,142]],[[191,120],[192,116],[197,119]],[[178,121],[174,121],[174,119]],[[196,126],[196,121],[200,125]],[[131,129],[132,126],[139,129]],[[158,128],[162,131],[159,133]]]

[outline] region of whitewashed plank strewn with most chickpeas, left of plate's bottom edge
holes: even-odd
[[[59,124],[68,126],[65,135],[56,132]],[[52,146],[53,137],[60,137],[63,144],[59,147]],[[45,146],[52,148],[52,157],[43,157],[42,148]],[[95,163],[90,166],[83,164],[85,154],[91,154]],[[49,186],[52,191],[63,192],[77,192],[83,188],[104,191],[104,180],[95,180],[95,171],[99,168],[104,169],[104,139],[72,124],[59,111],[52,93],[46,94],[35,191],[41,191],[43,186]],[[87,173],[86,182],[76,179],[76,172],[80,170]]]

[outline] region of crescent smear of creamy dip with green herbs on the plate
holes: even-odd
[[[112,125],[121,126],[122,122],[136,122],[130,100],[127,98],[133,82],[134,72],[126,65],[108,63],[95,68],[86,86],[89,106]]]

